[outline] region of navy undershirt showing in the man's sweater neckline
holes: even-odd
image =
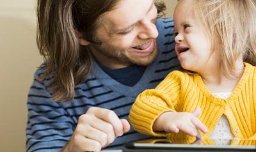
[[[147,66],[131,65],[125,68],[111,69],[101,63],[97,62],[97,65],[106,72],[109,77],[116,80],[120,84],[125,86],[134,86],[141,79]]]

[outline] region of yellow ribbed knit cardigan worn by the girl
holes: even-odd
[[[157,117],[166,111],[193,112],[200,107],[199,119],[209,129],[207,139],[223,114],[227,116],[234,137],[256,139],[256,67],[244,63],[244,73],[227,99],[216,98],[198,74],[174,71],[156,89],[141,93],[132,105],[129,121],[135,130],[168,139],[195,138],[183,133],[154,132]]]

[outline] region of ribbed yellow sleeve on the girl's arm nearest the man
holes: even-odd
[[[181,79],[182,73],[174,71],[156,89],[147,89],[137,97],[129,115],[135,130],[154,136],[166,136],[166,133],[154,132],[152,126],[163,112],[175,112]]]

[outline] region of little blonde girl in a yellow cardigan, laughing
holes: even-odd
[[[183,0],[175,51],[184,71],[141,93],[135,130],[170,139],[256,139],[256,8],[253,0]]]

